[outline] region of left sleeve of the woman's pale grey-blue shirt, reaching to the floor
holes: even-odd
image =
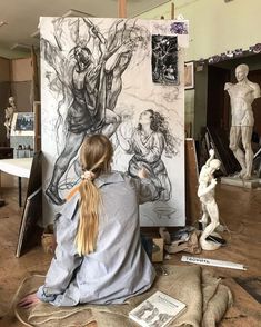
[[[57,295],[62,294],[82,261],[82,257],[77,254],[74,242],[78,219],[61,215],[56,220],[56,255],[47,272],[46,283],[37,293],[42,301],[52,301]]]

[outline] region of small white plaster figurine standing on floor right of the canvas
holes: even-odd
[[[200,198],[203,212],[202,218],[199,221],[202,222],[202,226],[207,226],[210,219],[210,224],[204,228],[200,237],[200,245],[203,250],[217,250],[221,245],[208,241],[207,237],[211,235],[220,224],[219,208],[214,198],[217,179],[213,177],[213,174],[220,168],[221,162],[220,160],[214,159],[213,149],[211,149],[209,153],[210,158],[200,171],[198,197]]]

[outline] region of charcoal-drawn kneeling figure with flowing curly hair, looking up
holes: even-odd
[[[155,200],[159,201],[168,201],[171,198],[171,184],[162,153],[168,151],[170,157],[177,155],[173,138],[164,122],[162,115],[148,109],[140,113],[138,127],[131,138],[123,136],[121,126],[117,130],[121,148],[133,155],[129,161],[128,174],[137,177],[141,167],[144,168],[157,187],[159,195]]]

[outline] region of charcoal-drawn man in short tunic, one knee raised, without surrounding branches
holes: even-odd
[[[121,121],[113,109],[121,91],[121,76],[132,57],[133,42],[121,42],[110,51],[106,49],[106,44],[102,48],[103,53],[98,63],[94,63],[89,48],[77,46],[73,49],[73,100],[67,112],[68,131],[64,148],[54,164],[52,178],[46,190],[56,205],[64,202],[59,196],[59,181],[77,156],[84,136],[104,133],[111,137]]]

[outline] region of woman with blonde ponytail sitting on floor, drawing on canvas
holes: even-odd
[[[80,150],[82,181],[56,220],[57,249],[46,283],[20,306],[121,304],[149,289],[155,272],[140,241],[139,204],[158,197],[153,184],[111,171],[112,145],[102,135]]]

